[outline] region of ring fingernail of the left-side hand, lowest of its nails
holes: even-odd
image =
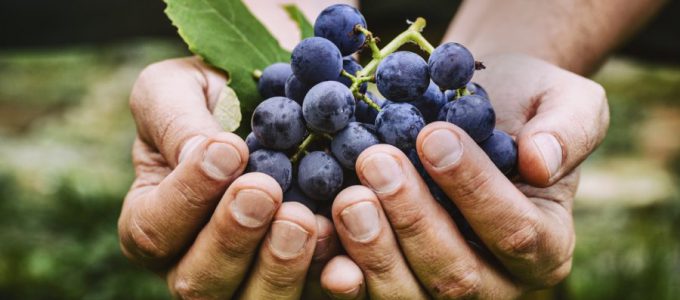
[[[272,253],[281,259],[297,257],[309,239],[309,232],[290,221],[275,221],[272,224],[270,247]]]

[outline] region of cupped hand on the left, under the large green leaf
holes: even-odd
[[[298,298],[310,264],[338,249],[333,225],[282,204],[273,178],[241,175],[248,148],[210,113],[225,82],[195,58],[140,75],[130,97],[137,176],[118,222],[121,248],[178,298]]]

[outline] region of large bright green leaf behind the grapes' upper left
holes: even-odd
[[[290,53],[240,0],[165,2],[165,13],[189,50],[229,74],[229,85],[238,94],[241,112],[250,116],[260,101],[253,71],[275,62],[288,62]],[[247,122],[242,125],[248,126]]]

